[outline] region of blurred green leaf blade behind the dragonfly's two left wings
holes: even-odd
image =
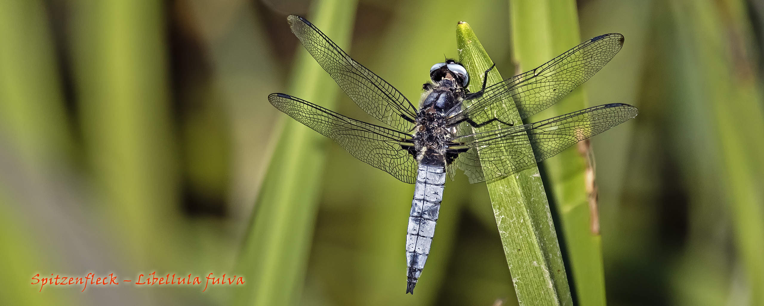
[[[347,46],[356,5],[353,0],[318,2],[310,19],[335,43]],[[299,49],[287,92],[331,108],[337,84]],[[328,139],[286,115],[281,120],[275,154],[239,255],[238,269],[250,276],[251,286],[238,290],[237,305],[292,305],[303,289]]]

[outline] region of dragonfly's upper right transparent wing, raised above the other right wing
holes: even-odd
[[[501,120],[519,122],[557,103],[610,62],[623,46],[623,35],[610,33],[591,38],[540,65],[486,88],[481,97],[465,101],[450,122],[469,118],[475,123]],[[520,112],[520,120],[512,108]]]

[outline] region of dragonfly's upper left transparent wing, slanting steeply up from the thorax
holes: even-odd
[[[393,129],[408,131],[413,127],[403,116],[413,120],[416,107],[393,85],[351,59],[305,18],[290,15],[287,20],[305,49],[358,107]]]

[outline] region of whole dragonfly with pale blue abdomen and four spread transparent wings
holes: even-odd
[[[416,107],[305,18],[290,15],[287,21],[342,91],[381,124],[355,120],[289,94],[270,94],[268,100],[355,158],[415,184],[406,230],[406,293],[412,295],[429,256],[447,174],[453,179],[459,169],[470,183],[500,180],[638,113],[629,104],[614,103],[523,124],[607,64],[623,46],[620,33],[591,38],[536,69],[486,86],[492,66],[475,92],[468,91],[465,66],[447,59],[430,68],[430,81],[422,85]]]

